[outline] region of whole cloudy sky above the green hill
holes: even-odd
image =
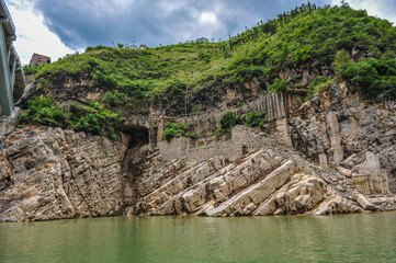
[[[87,46],[159,46],[226,39],[306,0],[5,0],[22,64],[33,53],[55,61]],[[310,0],[340,4],[341,0]],[[396,24],[396,0],[347,0]]]

